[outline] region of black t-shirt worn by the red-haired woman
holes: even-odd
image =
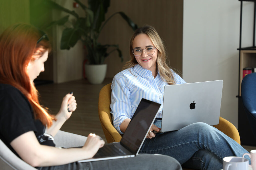
[[[34,131],[40,144],[55,146],[54,138],[45,130],[41,121],[35,120],[33,108],[21,91],[9,84],[0,84],[0,139],[5,145],[18,155],[10,143],[22,134]]]

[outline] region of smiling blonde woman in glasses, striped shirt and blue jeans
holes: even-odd
[[[113,124],[123,134],[142,98],[163,104],[164,86],[186,83],[166,64],[165,46],[151,26],[135,31],[130,42],[130,57],[124,70],[112,82],[111,113]],[[160,153],[176,158],[184,167],[222,169],[225,156],[247,152],[236,141],[205,123],[183,129],[161,130],[162,109],[143,143],[140,153]]]

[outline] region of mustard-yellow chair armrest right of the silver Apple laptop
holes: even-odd
[[[219,124],[213,127],[216,127],[221,132],[225,133],[227,136],[234,139],[237,143],[241,145],[240,135],[238,133],[237,128],[226,119],[223,119],[222,117],[220,117]]]

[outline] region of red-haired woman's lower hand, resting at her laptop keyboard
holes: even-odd
[[[104,146],[104,144],[105,141],[102,140],[100,136],[89,134],[83,149],[85,149],[92,158],[98,152],[98,150]]]

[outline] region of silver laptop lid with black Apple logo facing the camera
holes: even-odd
[[[223,80],[165,86],[162,132],[197,122],[219,124],[222,87]]]

